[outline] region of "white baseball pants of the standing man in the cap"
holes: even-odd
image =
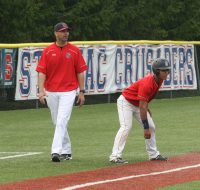
[[[46,92],[47,105],[51,112],[55,132],[51,147],[51,153],[71,154],[71,141],[67,131],[76,90],[70,92]]]

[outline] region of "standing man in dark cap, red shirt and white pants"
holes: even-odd
[[[70,27],[66,23],[54,26],[56,42],[44,49],[37,65],[39,100],[51,112],[55,133],[51,147],[53,162],[72,159],[68,122],[75,97],[84,104],[84,71],[87,65],[76,46],[68,42]]]

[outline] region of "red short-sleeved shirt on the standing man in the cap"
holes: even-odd
[[[50,92],[66,92],[78,88],[77,73],[87,70],[87,65],[78,47],[56,43],[42,52],[36,71],[46,75],[45,89]]]

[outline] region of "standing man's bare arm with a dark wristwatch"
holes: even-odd
[[[84,93],[85,93],[85,84],[84,84],[85,77],[84,77],[84,72],[77,73],[77,78],[78,78],[78,84],[79,84],[80,92],[79,92],[78,99],[77,99],[76,103],[79,103],[79,105],[82,106],[85,103],[85,96],[84,96]]]

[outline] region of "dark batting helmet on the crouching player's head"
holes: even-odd
[[[171,66],[166,59],[157,58],[153,61],[152,69],[154,74],[159,75],[160,70],[170,70]]]

